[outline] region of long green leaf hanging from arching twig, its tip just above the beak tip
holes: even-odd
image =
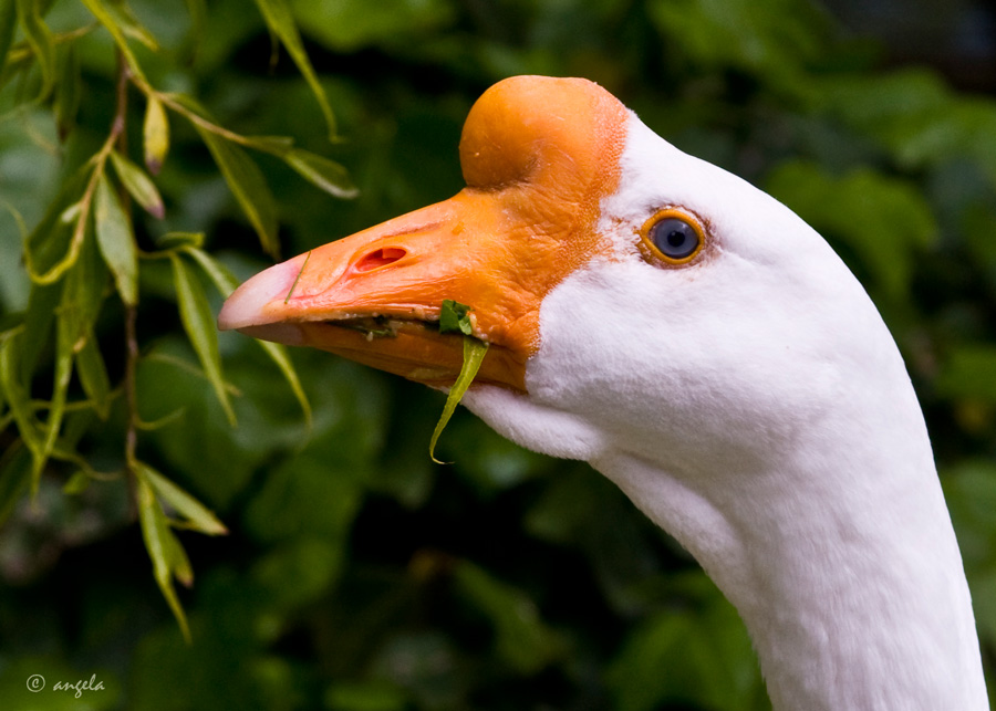
[[[249,218],[263,249],[278,259],[280,244],[277,242],[277,203],[259,166],[238,146],[197,124],[195,127]]]

